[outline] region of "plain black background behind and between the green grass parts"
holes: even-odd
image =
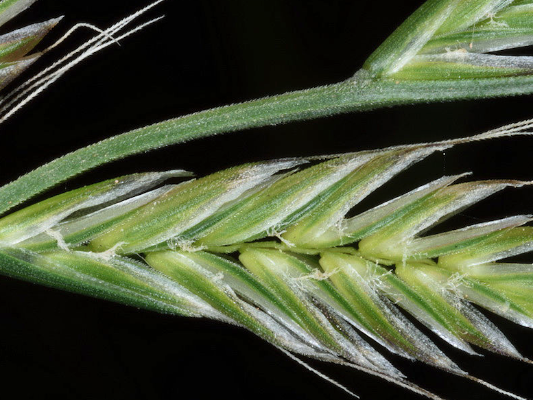
[[[163,21],[70,71],[0,127],[1,180],[7,183],[65,152],[147,123],[348,78],[419,3],[168,0],[147,16],[166,14]],[[53,43],[78,21],[107,27],[143,5],[145,0],[39,0],[3,30],[64,14],[47,39]],[[32,71],[90,36],[75,34]],[[132,172],[184,168],[206,174],[244,161],[460,137],[533,117],[532,111],[530,97],[516,97],[248,130],[133,156],[51,193]],[[443,174],[532,179],[532,140],[501,139],[436,154],[382,188],[368,205]],[[445,226],[531,213],[532,193],[509,189]],[[491,319],[523,355],[533,357],[531,331]],[[158,315],[7,278],[0,279],[0,321],[0,387],[21,399],[348,399],[252,334],[217,322]],[[474,375],[521,395],[533,392],[533,366],[486,352],[469,357],[437,342]],[[418,384],[449,399],[501,398],[434,368],[390,359]],[[362,399],[418,398],[353,370],[311,364]]]

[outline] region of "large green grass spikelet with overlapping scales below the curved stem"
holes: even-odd
[[[146,273],[158,271],[158,277],[163,277],[158,279],[170,278],[176,285],[169,292],[172,298],[187,299],[187,306],[175,311],[178,314],[207,316],[246,327],[292,353],[371,370],[374,375],[410,387],[386,357],[362,340],[361,332],[388,351],[484,384],[466,374],[415,329],[394,303],[467,353],[475,353],[469,345],[473,343],[525,360],[470,302],[530,324],[530,286],[523,284],[531,279],[530,272],[499,277],[484,272],[489,270],[487,262],[531,250],[531,229],[522,226],[530,222],[530,216],[420,236],[451,213],[522,182],[457,184],[455,180],[463,175],[440,178],[346,220],[346,226],[372,226],[359,238],[351,236],[358,249],[316,240],[359,199],[399,170],[431,152],[464,141],[469,140],[399,146],[322,160],[251,163],[152,190],[166,178],[184,172],[137,174],[76,189],[0,218],[0,233],[5,237],[5,250],[0,253],[18,260],[10,261],[15,265],[24,266],[22,272],[3,268],[3,273],[91,293],[99,269],[118,268],[115,263],[123,262],[120,260],[125,256],[140,253],[145,261],[139,268]],[[204,223],[210,219],[213,223]],[[21,225],[23,220],[26,223]],[[228,228],[219,221],[232,225]],[[313,242],[298,237],[295,227],[302,221],[320,222],[320,234]],[[220,226],[224,226],[222,231]],[[294,243],[272,227],[288,228]],[[137,231],[132,236],[134,228]],[[188,243],[168,241],[191,228],[202,234],[191,236]],[[210,242],[208,239],[218,232],[230,233],[233,236],[228,237],[234,239]],[[255,241],[263,237],[274,240]],[[300,243],[313,243],[314,247],[306,244],[300,248]],[[176,244],[180,250],[173,250]],[[228,245],[228,250],[221,245]],[[240,263],[222,252],[238,252]],[[438,262],[424,258],[429,256],[438,257]],[[75,266],[69,257],[84,261]],[[86,264],[87,260],[91,262]],[[80,275],[77,268],[84,265],[88,270]],[[50,266],[56,271],[52,273]],[[456,278],[457,272],[464,274],[464,279]],[[73,285],[75,277],[81,276],[86,277],[86,283]],[[169,311],[167,305],[154,306],[148,301],[161,297],[160,292],[154,292],[155,287],[161,290],[160,284],[154,286],[150,281],[152,291],[143,292],[148,296],[143,303],[134,297],[139,294],[125,297],[124,289],[117,287],[121,276],[112,277],[115,280],[106,283],[106,291],[95,292],[95,296],[150,309],[167,307]],[[502,305],[507,309],[501,309]]]

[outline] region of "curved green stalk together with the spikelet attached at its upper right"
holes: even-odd
[[[533,43],[532,25],[530,1],[427,1],[348,80],[204,110],[89,145],[1,187],[0,213],[98,165],[191,139],[401,104],[532,93],[533,58],[485,54]]]

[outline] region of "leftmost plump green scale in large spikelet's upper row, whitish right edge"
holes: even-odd
[[[298,163],[246,164],[182,183],[155,202],[130,213],[125,220],[93,239],[90,246],[97,251],[116,247],[117,252],[127,254],[141,252],[168,239],[174,240],[280,169]]]

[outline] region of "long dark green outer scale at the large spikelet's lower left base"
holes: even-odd
[[[169,290],[165,277],[126,258],[10,249],[0,252],[0,259],[1,272],[11,277],[163,313],[201,315],[187,296]]]

